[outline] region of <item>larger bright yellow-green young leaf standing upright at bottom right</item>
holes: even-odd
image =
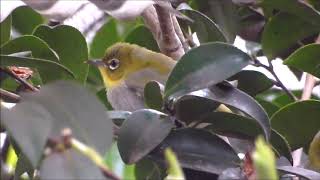
[[[255,148],[252,153],[252,160],[257,179],[278,179],[275,156],[262,137],[258,137],[256,140]]]

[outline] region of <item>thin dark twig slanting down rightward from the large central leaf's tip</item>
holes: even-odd
[[[267,66],[262,64],[258,59],[254,58],[254,63],[257,66],[263,67],[266,70],[268,70],[272,74],[272,76],[276,79],[275,85],[280,87],[292,100],[294,101],[298,100],[298,98],[280,81],[270,61],[268,61],[269,65]]]

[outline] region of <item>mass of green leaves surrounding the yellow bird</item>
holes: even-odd
[[[181,12],[193,21],[179,23],[192,49],[164,87],[146,84],[146,109],[134,112],[112,110],[100,74],[85,62],[102,58],[119,41],[159,52],[139,18],[124,23],[107,17],[91,42],[74,27],[51,27],[27,6],[3,20],[1,131],[18,155],[16,172],[5,175],[33,179],[37,169],[43,179],[240,179],[254,174],[320,179],[320,99],[297,101],[301,93],[284,87],[272,67],[280,57],[288,67],[320,78],[320,47],[314,41],[320,32],[319,3],[187,3],[190,7]],[[13,30],[18,35],[12,36]],[[190,38],[194,33],[199,46]],[[236,35],[255,41],[259,52],[236,48]],[[268,58],[269,66],[259,63],[258,54]],[[266,68],[276,80],[243,69],[250,64]],[[4,102],[18,103],[7,109]],[[293,167],[291,153],[302,147],[310,155],[303,163],[308,166]],[[286,164],[276,166],[283,158]],[[8,159],[2,159],[1,172]]]

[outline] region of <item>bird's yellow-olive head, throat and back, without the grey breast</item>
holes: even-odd
[[[129,43],[116,43],[107,49],[103,59],[88,63],[99,68],[107,88],[123,83],[143,88],[151,80],[165,83],[175,65],[170,57]]]

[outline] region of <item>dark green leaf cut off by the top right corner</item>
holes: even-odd
[[[263,0],[260,4],[264,8],[272,8],[302,18],[313,25],[320,26],[320,12],[306,2],[299,0]],[[288,22],[287,22],[288,23]],[[304,27],[304,26],[301,26]],[[306,29],[304,27],[303,29]]]

